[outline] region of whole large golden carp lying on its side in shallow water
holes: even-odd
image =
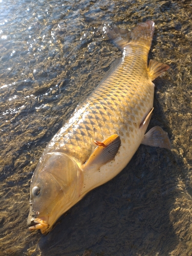
[[[146,134],[153,112],[153,80],[169,66],[150,60],[155,24],[132,31],[104,27],[122,51],[95,90],[46,146],[30,186],[29,230],[51,231],[57,219],[90,190],[113,179],[140,144],[170,150],[160,126]]]

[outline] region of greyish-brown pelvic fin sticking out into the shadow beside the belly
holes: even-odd
[[[148,131],[141,142],[141,144],[147,146],[159,146],[164,147],[170,150],[172,148],[172,144],[170,144],[170,140],[168,135],[160,126],[154,126],[150,131]]]

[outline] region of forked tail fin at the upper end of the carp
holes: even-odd
[[[129,44],[142,45],[150,50],[155,23],[152,20],[139,23],[132,31],[113,27],[107,28],[106,34],[113,40],[114,44],[121,50]]]

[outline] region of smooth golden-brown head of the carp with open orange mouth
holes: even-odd
[[[48,233],[55,221],[80,200],[81,186],[82,170],[71,157],[46,153],[31,180],[29,230]]]

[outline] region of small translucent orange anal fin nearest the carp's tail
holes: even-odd
[[[168,70],[169,66],[158,62],[156,60],[150,59],[150,63],[148,65],[148,72],[150,73],[150,77],[155,80],[158,76],[162,75],[164,71]]]

